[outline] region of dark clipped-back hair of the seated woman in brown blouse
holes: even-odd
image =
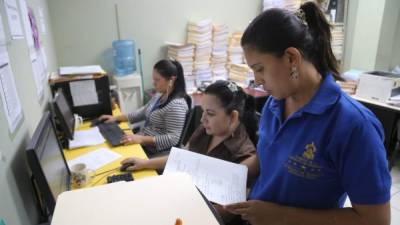
[[[253,97],[247,95],[234,82],[226,80],[218,80],[210,84],[204,93],[217,97],[228,115],[233,110],[238,111],[240,121],[246,127],[250,140],[253,143],[257,143],[258,120],[255,114]]]

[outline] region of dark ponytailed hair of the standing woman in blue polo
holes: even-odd
[[[335,79],[342,80],[332,52],[330,28],[314,2],[302,4],[297,13],[273,8],[250,23],[241,45],[277,57],[283,56],[289,47],[297,48],[323,77],[330,72]]]

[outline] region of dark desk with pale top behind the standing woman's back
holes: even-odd
[[[391,168],[396,156],[395,153],[398,132],[396,124],[400,119],[400,107],[361,98],[355,95],[352,95],[351,97],[370,109],[381,121],[385,131],[385,147],[387,151],[387,157],[389,159],[389,166]]]

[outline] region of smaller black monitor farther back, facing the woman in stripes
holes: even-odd
[[[62,89],[58,89],[53,98],[53,107],[65,139],[74,138],[75,117]]]

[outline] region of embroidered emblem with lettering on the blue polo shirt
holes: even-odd
[[[313,180],[321,177],[322,166],[314,162],[316,152],[317,147],[314,142],[307,144],[301,155],[289,156],[285,163],[286,169],[289,173],[306,179]]]

